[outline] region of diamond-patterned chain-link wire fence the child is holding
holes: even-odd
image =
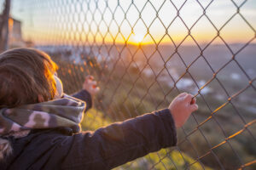
[[[176,147],[117,169],[256,169],[255,9],[253,0],[14,0],[9,38],[20,22],[20,44],[55,59],[67,94],[96,78],[84,130],[195,95],[200,109]]]

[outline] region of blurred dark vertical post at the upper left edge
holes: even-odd
[[[9,48],[9,10],[11,0],[5,0],[1,26],[0,26],[0,51],[5,51]],[[5,31],[4,31],[5,30]]]

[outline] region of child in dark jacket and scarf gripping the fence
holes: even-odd
[[[179,94],[167,109],[116,122],[95,132],[80,132],[91,107],[96,82],[63,94],[57,65],[48,54],[16,48],[0,54],[1,169],[111,169],[149,152],[174,146],[198,106]]]

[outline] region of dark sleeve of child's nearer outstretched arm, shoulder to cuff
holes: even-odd
[[[77,133],[64,161],[67,169],[111,169],[149,152],[177,144],[168,109],[116,122],[96,132]]]

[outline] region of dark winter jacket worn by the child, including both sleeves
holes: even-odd
[[[91,107],[90,94],[73,97]],[[86,116],[84,117],[86,119]],[[168,109],[116,122],[95,132],[73,133],[71,128],[32,130],[26,137],[9,138],[13,153],[0,169],[111,169],[149,152],[177,143],[176,129]]]

